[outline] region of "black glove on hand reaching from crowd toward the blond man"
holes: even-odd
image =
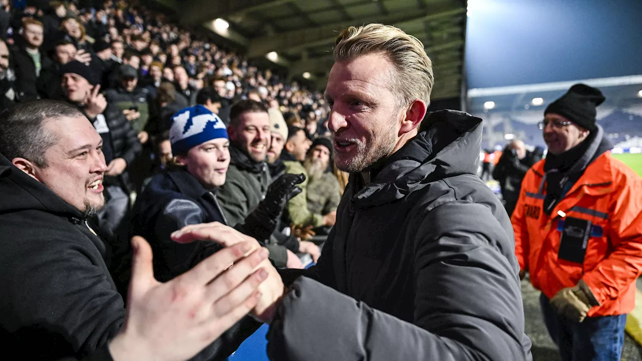
[[[297,184],[304,180],[306,180],[306,176],[303,174],[286,173],[281,175],[270,184],[265,198],[245,218],[245,223],[236,229],[261,242],[267,240],[279,223],[279,218],[281,218],[281,213],[288,204],[288,200],[301,193],[302,189],[297,187]]]

